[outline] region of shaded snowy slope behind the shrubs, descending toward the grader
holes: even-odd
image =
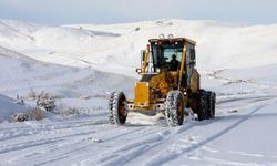
[[[60,97],[80,97],[82,95],[104,95],[106,90],[122,89],[122,80],[134,80],[109,74],[92,69],[76,69],[47,62],[40,62],[24,54],[0,46],[1,93],[14,97],[25,95],[31,89],[50,91]],[[103,84],[103,80],[110,84]],[[88,89],[84,89],[86,86]],[[82,90],[83,89],[83,90]],[[129,87],[123,89],[130,90]]]

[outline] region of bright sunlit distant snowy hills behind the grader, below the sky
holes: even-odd
[[[66,27],[3,20],[1,45],[40,61],[135,75],[140,51],[161,33],[197,42],[201,70],[250,68],[277,62],[277,25],[158,20],[129,24]],[[116,69],[116,70],[114,70]],[[127,71],[127,72],[126,72]]]

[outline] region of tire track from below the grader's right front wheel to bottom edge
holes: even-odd
[[[188,132],[193,128],[194,124],[186,124],[179,128],[155,128],[154,132],[150,132],[145,134],[143,137],[141,136],[140,141],[131,142],[130,144],[122,145],[121,147],[109,152],[102,153],[96,164],[99,165],[124,165],[129,162],[133,162],[140,156],[144,156],[146,152],[153,149],[155,152],[155,147],[160,147],[161,144],[166,144],[171,139],[178,137],[181,134]],[[147,131],[148,128],[145,128]],[[171,129],[173,132],[171,132]],[[136,138],[137,139],[137,138]],[[82,164],[93,164],[93,159],[83,160]],[[94,163],[95,164],[95,163]]]

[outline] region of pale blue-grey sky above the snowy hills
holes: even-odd
[[[122,23],[157,19],[277,23],[277,0],[0,0],[0,18],[38,23]]]

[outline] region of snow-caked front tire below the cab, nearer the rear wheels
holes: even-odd
[[[184,96],[179,91],[168,92],[165,101],[165,118],[168,126],[178,126],[184,122]]]

